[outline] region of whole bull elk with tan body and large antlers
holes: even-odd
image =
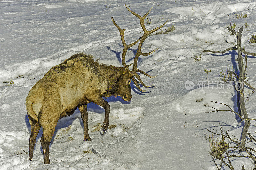
[[[92,59],[91,55],[84,53],[75,54],[61,64],[52,67],[29,91],[26,98],[26,109],[31,125],[29,160],[32,160],[36,136],[41,126],[43,127],[41,145],[44,164],[50,164],[49,145],[60,118],[70,116],[78,107],[84,123],[84,141],[91,141],[87,126],[87,103],[93,102],[105,109],[105,118],[101,128],[101,133],[104,135],[109,125],[110,106],[103,97],[121,96],[124,101],[131,101],[131,79],[140,91],[144,91],[138,85],[135,77],[144,87],[151,87],[146,86],[142,82],[137,72],[150,78],[153,78],[153,76],[139,70],[137,68],[137,61],[140,55],[147,56],[157,50],[143,53],[141,52],[142,43],[148,35],[163,27],[168,20],[163,25],[148,31],[144,25],[144,19],[152,8],[144,16],[136,14],[127,6],[126,8],[140,19],[140,25],[144,34],[134,43],[127,45],[124,41],[125,29],[121,29],[113,17],[111,17],[114,25],[120,32],[124,46],[122,53],[122,64],[124,67],[99,64]],[[133,68],[130,71],[128,67],[131,64],[126,65],[125,55],[127,50],[139,41]]]

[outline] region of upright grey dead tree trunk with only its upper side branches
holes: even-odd
[[[227,71],[229,73],[232,73],[237,81],[238,84],[236,86],[236,91],[237,91],[237,106],[238,106],[238,111],[239,114],[241,116],[244,116],[244,128],[243,128],[243,132],[242,132],[242,137],[241,137],[241,145],[244,147],[245,145],[245,140],[246,140],[246,134],[248,131],[248,128],[250,127],[250,120],[248,119],[248,114],[245,108],[245,103],[244,103],[244,84],[246,84],[248,87],[250,87],[253,92],[254,92],[254,88],[247,82],[248,80],[245,80],[245,71],[247,69],[247,54],[250,55],[254,55],[256,56],[255,53],[248,53],[245,51],[245,47],[242,48],[241,47],[241,36],[242,36],[242,31],[243,31],[244,27],[241,27],[239,29],[239,31],[236,33],[234,30],[230,29],[228,27],[228,31],[232,32],[233,34],[236,35],[236,39],[237,39],[237,43],[236,43],[236,47],[231,47],[228,48],[222,52],[220,51],[209,51],[209,50],[205,50],[203,52],[212,52],[212,53],[224,53],[227,52],[228,50],[237,50],[238,51],[238,58],[236,58],[236,61],[238,61],[238,66],[239,66],[239,70],[240,73],[239,75],[237,75],[234,71]],[[243,60],[243,52],[244,52],[244,56],[245,56],[245,66],[244,66],[244,60]]]

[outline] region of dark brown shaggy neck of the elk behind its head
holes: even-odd
[[[122,75],[123,67],[115,67],[112,65],[100,64],[100,71],[104,75],[105,81],[107,83],[107,91],[102,95],[102,97],[109,97],[115,94],[118,89],[118,79]]]

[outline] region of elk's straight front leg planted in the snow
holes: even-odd
[[[81,117],[82,117],[82,120],[84,122],[84,141],[91,141],[92,139],[90,138],[89,136],[89,133],[88,133],[88,112],[87,112],[87,104],[84,104],[82,106],[79,106],[78,107],[80,113],[81,113]]]

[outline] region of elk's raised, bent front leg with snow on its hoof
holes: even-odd
[[[101,96],[97,97],[96,99],[91,99],[91,101],[105,109],[105,119],[101,128],[101,133],[104,135],[108,129],[109,125],[109,112],[110,112],[110,105],[106,100],[104,100]]]

